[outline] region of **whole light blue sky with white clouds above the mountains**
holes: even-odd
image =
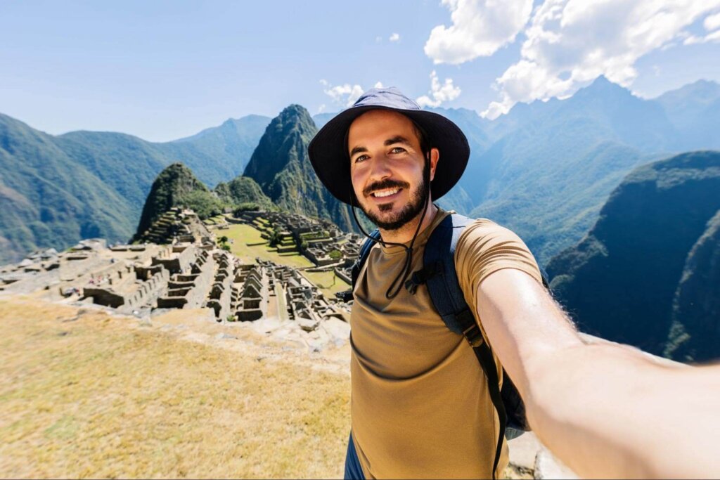
[[[164,141],[377,82],[490,117],[600,74],[652,97],[720,81],[720,0],[678,3],[2,0],[0,112]]]

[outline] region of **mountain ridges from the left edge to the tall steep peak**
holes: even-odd
[[[0,263],[87,237],[127,241],[163,168],[181,160],[204,183],[235,178],[268,122],[251,115],[153,143],[114,132],[47,135],[0,114]]]

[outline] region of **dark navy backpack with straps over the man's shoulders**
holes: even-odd
[[[455,271],[455,247],[457,241],[464,232],[465,227],[474,222],[460,214],[449,214],[442,222],[433,230],[423,254],[423,268],[415,271],[408,281],[405,281],[405,289],[411,294],[415,294],[415,290],[421,284],[427,284],[428,292],[433,302],[433,306],[437,310],[445,325],[453,332],[463,335],[472,347],[477,361],[485,372],[487,378],[488,390],[490,391],[490,399],[498,412],[500,419],[500,435],[498,436],[498,446],[495,450],[495,464],[492,471],[498,468],[500,461],[500,453],[503,447],[503,437],[507,436],[508,440],[516,438],[530,430],[525,415],[525,404],[521,399],[518,389],[505,373],[503,368],[503,388],[500,389],[500,381],[498,372],[495,367],[495,361],[492,359],[492,350],[490,346],[482,338],[480,327],[477,326],[472,309],[465,302],[464,295],[460,289],[460,284]],[[351,269],[352,289],[342,291],[337,294],[338,299],[349,302],[353,298],[353,290],[360,276],[360,272],[370,254],[374,243],[380,238],[379,230],[374,230],[370,237],[360,248],[357,260]],[[546,276],[541,270],[543,284],[549,288]]]

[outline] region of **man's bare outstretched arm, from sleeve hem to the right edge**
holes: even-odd
[[[720,366],[673,368],[622,345],[588,345],[512,268],[480,283],[477,311],[535,433],[577,474],[720,476]]]

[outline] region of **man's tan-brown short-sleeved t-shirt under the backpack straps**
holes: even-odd
[[[439,210],[418,235],[412,271],[422,268],[430,232],[448,214]],[[426,285],[414,295],[403,288],[386,298],[404,264],[401,246],[374,245],[354,289],[352,435],[365,477],[492,478],[500,424],[485,374],[467,341],[435,311]],[[455,265],[471,307],[480,282],[500,269],[516,268],[541,281],[523,241],[486,219],[464,230]],[[504,444],[498,474],[507,463]]]

